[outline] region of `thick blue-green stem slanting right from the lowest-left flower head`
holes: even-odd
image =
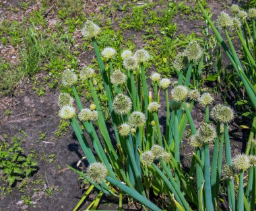
[[[110,183],[112,183],[113,185],[119,187],[123,192],[125,192],[129,196],[133,197],[135,200],[137,200],[141,204],[144,204],[151,210],[161,211],[161,209],[158,208],[158,206],[156,206],[150,200],[148,200],[147,198],[145,198],[144,196],[139,194],[139,192],[137,192],[135,189],[131,189],[131,187],[127,187],[125,184],[121,183],[117,179],[113,179],[112,177],[109,177],[109,176],[106,177],[106,180],[109,181]]]

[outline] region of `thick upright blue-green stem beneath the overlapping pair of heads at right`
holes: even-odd
[[[205,179],[205,184],[203,186],[205,193],[205,206],[207,211],[213,211],[214,205],[212,203],[212,190],[211,190],[211,180],[210,180],[210,152],[209,145],[205,144],[205,159],[204,159],[204,167],[203,167],[203,175]]]

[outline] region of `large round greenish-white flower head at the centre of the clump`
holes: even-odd
[[[113,101],[113,109],[116,114],[125,115],[131,111],[131,98],[121,93],[117,94]]]

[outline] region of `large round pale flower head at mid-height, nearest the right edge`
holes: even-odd
[[[230,106],[218,104],[212,109],[211,116],[216,122],[229,123],[234,120],[234,110]]]

